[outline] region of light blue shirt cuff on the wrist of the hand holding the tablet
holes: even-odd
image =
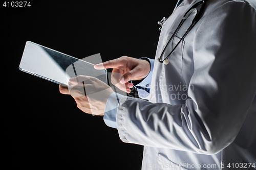
[[[104,111],[103,120],[105,124],[111,128],[116,128],[116,113],[119,101],[124,95],[113,92],[110,94],[108,101],[106,101],[106,107]]]

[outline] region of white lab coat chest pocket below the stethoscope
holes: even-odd
[[[163,43],[167,44],[170,37],[172,37],[171,33],[168,35],[167,39],[163,40]],[[178,44],[179,41],[180,38],[175,36],[172,42],[169,43],[162,59],[164,59],[173,50],[173,48]],[[167,65],[162,64],[161,66],[161,72],[159,75],[159,87],[162,91],[168,94],[177,94],[178,92],[182,94],[185,92],[184,90],[186,90],[184,89],[185,81],[182,77],[182,59],[184,45],[185,41],[182,40],[178,44],[174,52],[169,56],[169,63]]]

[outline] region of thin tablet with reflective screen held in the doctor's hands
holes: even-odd
[[[100,58],[100,54],[92,57]],[[106,83],[107,70],[96,70],[94,69],[94,64],[84,61],[84,59],[77,59],[27,41],[19,69],[61,85],[68,85],[70,78],[79,75],[96,77]]]

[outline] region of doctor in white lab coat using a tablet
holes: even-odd
[[[136,86],[148,101],[91,79],[106,92],[90,108],[88,96],[76,95],[87,85],[71,79],[72,90],[60,86],[81,110],[102,113],[123,142],[144,145],[142,169],[256,169],[256,3],[206,1],[185,38],[201,6],[173,36],[185,12],[200,1],[178,2],[162,27],[155,60],[121,57],[95,65],[113,68],[122,75],[112,76],[117,87],[129,93]],[[160,61],[177,46],[164,64],[157,59],[166,45]]]

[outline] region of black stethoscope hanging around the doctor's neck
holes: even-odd
[[[168,58],[169,56],[174,52],[174,50],[176,49],[176,47],[180,44],[180,42],[186,37],[186,35],[190,32],[191,29],[193,29],[193,27],[196,25],[196,23],[199,21],[200,16],[202,15],[202,12],[204,10],[205,7],[205,1],[200,1],[198,3],[196,3],[195,5],[193,5],[189,10],[187,10],[187,12],[185,13],[185,15],[183,16],[182,20],[180,21],[177,29],[175,30],[174,34],[172,35],[172,37],[170,37],[169,41],[167,42],[167,44],[165,45],[163,52],[161,53],[160,57],[157,59],[158,62],[160,63],[164,63],[165,65],[167,65],[169,63]],[[173,50],[168,54],[168,56],[166,56],[163,60],[162,57],[166,51],[167,46],[169,45],[169,43],[174,39],[174,37],[177,35],[178,31],[180,30],[181,26],[183,25],[184,21],[188,18],[188,16],[195,11],[195,9],[197,10],[197,7],[200,6],[202,4],[201,9],[199,10],[199,12],[197,12],[195,18],[193,19],[191,25],[189,26],[189,28],[187,29],[187,31],[185,32],[185,34],[182,36],[182,38],[180,39],[180,41],[176,44],[176,46],[173,48]],[[158,22],[158,24],[161,26],[159,28],[159,30],[162,29],[162,26],[165,22],[166,18],[163,17],[163,19],[161,21]]]

